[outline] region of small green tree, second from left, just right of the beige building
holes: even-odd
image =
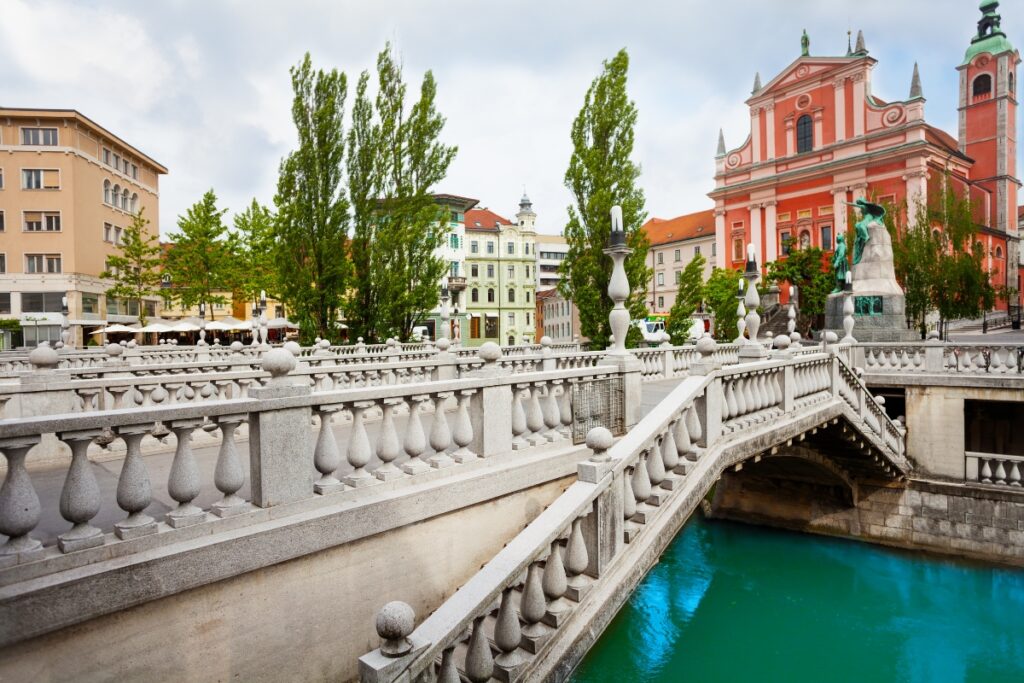
[[[230,303],[225,294],[236,289],[238,245],[224,225],[226,209],[217,208],[213,190],[203,195],[184,216],[178,216],[178,232],[167,255],[165,270],[171,276],[173,297],[183,307]]]

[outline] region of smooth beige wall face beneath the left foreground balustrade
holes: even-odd
[[[16,643],[0,649],[0,681],[354,680],[385,602],[423,618],[574,479]]]

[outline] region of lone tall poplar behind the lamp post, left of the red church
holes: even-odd
[[[593,348],[608,345],[608,297],[611,258],[602,250],[611,231],[611,207],[623,208],[626,243],[633,253],[626,259],[632,292],[626,301],[634,319],[646,313],[645,297],[651,271],[646,265],[649,242],[641,229],[646,218],[643,190],[637,186],[640,167],[633,154],[636,104],[627,94],[629,55],[620,50],[603,69],[584,98],[572,122],[572,156],[565,171],[565,186],[572,194],[565,226],[568,254],[562,261],[559,293],[580,309],[581,332]],[[632,330],[632,326],[631,326]],[[627,343],[632,343],[628,338]]]

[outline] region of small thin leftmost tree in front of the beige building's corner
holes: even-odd
[[[163,258],[160,241],[145,229],[150,220],[144,209],[139,210],[131,223],[121,233],[118,254],[106,259],[106,268],[100,278],[114,281],[106,290],[108,297],[134,301],[138,305],[138,322],[145,326],[145,297],[161,294],[161,265]]]

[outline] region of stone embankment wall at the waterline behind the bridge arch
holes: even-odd
[[[1019,492],[1019,489],[1018,489]],[[728,473],[712,516],[1024,566],[1024,492],[911,479],[858,486],[854,503],[818,482]]]

